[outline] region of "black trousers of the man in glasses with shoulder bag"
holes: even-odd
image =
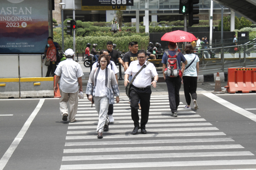
[[[146,129],[146,124],[148,123],[148,114],[150,107],[150,95],[151,88],[139,89],[135,86],[130,88],[130,98],[131,98],[131,110],[132,110],[132,120],[134,122],[134,127],[140,127],[140,129]],[[141,120],[139,123],[139,101],[141,107]]]

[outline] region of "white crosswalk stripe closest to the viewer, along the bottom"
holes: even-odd
[[[216,166],[216,165],[256,165],[256,159],[241,160],[204,160],[204,161],[173,161],[173,162],[139,162],[139,163],[110,163],[110,164],[78,164],[61,165],[60,170],[71,169],[102,169],[102,167],[112,168],[144,168],[145,167],[172,167],[172,166]],[[182,168],[180,168],[182,169]]]

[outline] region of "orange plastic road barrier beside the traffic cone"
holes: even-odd
[[[228,68],[228,85],[225,88],[229,93],[256,92],[256,68]]]

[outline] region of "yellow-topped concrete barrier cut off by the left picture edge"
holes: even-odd
[[[0,99],[20,98],[20,78],[0,78]]]

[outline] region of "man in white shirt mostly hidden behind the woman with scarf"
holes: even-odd
[[[100,55],[101,54],[106,54],[108,55],[108,51],[103,49],[100,51]],[[110,55],[108,55],[109,57],[111,57]],[[100,64],[98,62],[95,62],[93,65],[92,65],[92,68],[96,68],[96,67],[100,67]],[[108,64],[107,66],[108,68],[110,68],[111,70],[114,71],[115,73],[115,76],[116,76],[116,82],[118,83],[117,81],[117,73],[119,72],[117,67],[116,67],[116,64],[110,60],[110,64]],[[113,112],[114,112],[114,105],[113,104],[109,104],[108,106],[108,118],[109,118],[109,122],[110,123],[114,123],[114,117],[113,117]]]

